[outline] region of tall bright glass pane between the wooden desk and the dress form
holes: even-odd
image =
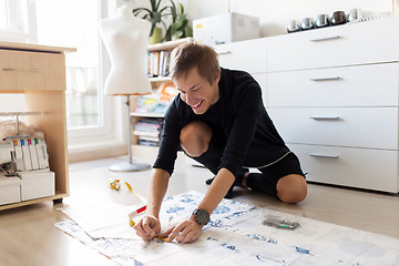
[[[98,0],[37,1],[38,41],[73,47],[66,54],[66,125],[101,126]]]

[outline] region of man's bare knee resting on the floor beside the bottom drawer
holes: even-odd
[[[306,180],[301,175],[293,174],[282,177],[276,186],[277,196],[284,203],[299,203],[307,195]]]

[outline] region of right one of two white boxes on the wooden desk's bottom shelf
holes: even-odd
[[[21,177],[21,200],[55,195],[55,176],[50,170],[18,172]]]

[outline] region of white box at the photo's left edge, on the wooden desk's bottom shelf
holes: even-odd
[[[21,178],[0,173],[0,205],[21,202]]]

